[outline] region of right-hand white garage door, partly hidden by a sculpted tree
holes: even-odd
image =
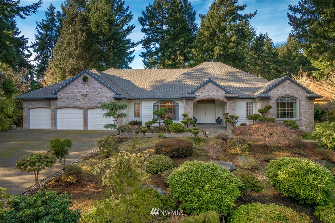
[[[103,115],[107,110],[101,108],[91,108],[87,110],[87,129],[88,130],[106,130],[106,124],[114,124],[113,118],[106,118]]]

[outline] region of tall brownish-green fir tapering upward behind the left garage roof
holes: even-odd
[[[44,86],[77,75],[84,69],[99,69],[99,49],[91,30],[86,3],[66,1],[62,4],[64,19],[42,82]]]

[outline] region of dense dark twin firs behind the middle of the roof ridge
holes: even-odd
[[[140,56],[145,68],[185,68],[195,41],[196,11],[188,1],[154,1],[138,21],[145,34]]]

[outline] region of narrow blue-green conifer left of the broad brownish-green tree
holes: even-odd
[[[36,53],[36,77],[43,78],[48,61],[52,57],[52,49],[55,47],[59,36],[59,20],[57,19],[56,7],[50,3],[45,11],[45,19],[36,22],[35,42],[31,47]]]

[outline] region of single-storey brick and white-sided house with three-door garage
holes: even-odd
[[[23,100],[26,129],[104,129],[114,120],[103,118],[106,111],[98,103],[121,99],[130,106],[123,111],[128,115],[123,124],[138,120],[144,125],[154,118],[153,109],[167,107],[163,119],[174,122],[187,113],[198,123],[215,123],[228,112],[240,117],[239,125],[250,123],[248,115],[270,104],[267,117],[279,123],[295,120],[305,129],[314,121],[314,99],[321,97],[287,76],[267,81],[220,62],[206,62],[191,69],[84,70],[17,99]]]

